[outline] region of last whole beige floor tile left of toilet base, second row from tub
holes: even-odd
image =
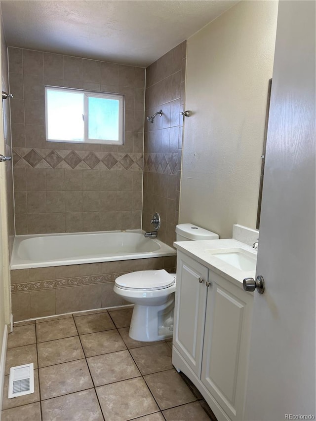
[[[88,333],[80,336],[81,344],[86,357],[107,354],[109,352],[126,349],[117,330]]]

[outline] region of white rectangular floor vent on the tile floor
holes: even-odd
[[[34,393],[34,364],[10,368],[8,398]]]

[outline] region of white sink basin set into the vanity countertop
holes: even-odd
[[[257,256],[254,253],[248,252],[241,248],[237,249],[218,249],[218,250],[206,250],[213,254],[217,259],[228,263],[234,268],[239,270],[255,270],[257,265]]]

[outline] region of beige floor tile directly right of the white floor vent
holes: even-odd
[[[41,399],[55,398],[93,387],[85,359],[39,369]]]

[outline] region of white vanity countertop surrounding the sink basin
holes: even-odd
[[[242,288],[242,281],[244,278],[255,278],[255,270],[240,270],[234,266],[222,261],[216,257],[216,254],[212,255],[209,250],[220,250],[230,248],[241,248],[247,252],[257,256],[257,251],[249,245],[232,238],[223,240],[201,240],[201,241],[175,241],[174,247],[192,257],[197,262],[213,270],[223,278]]]

